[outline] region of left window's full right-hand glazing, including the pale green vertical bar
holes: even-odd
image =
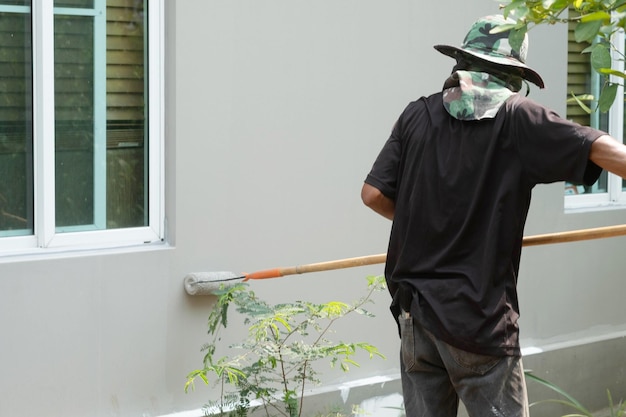
[[[57,231],[147,225],[144,19],[136,0],[55,15]]]

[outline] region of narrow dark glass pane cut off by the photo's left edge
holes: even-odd
[[[33,234],[30,34],[30,13],[0,13],[0,237]]]

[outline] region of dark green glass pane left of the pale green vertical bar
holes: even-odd
[[[93,225],[93,18],[55,16],[56,225]]]

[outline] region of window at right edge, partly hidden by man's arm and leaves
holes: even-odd
[[[571,94],[577,96],[590,94],[598,97],[601,85],[606,81],[591,69],[589,54],[581,53],[588,45],[576,43],[573,33],[574,25],[570,24],[567,85],[570,97],[568,98],[567,118],[577,123],[606,131],[616,139],[623,141],[624,123],[626,120],[624,117],[624,100],[616,99],[608,113],[593,112],[587,114],[571,98]],[[613,51],[613,61],[623,65],[622,58],[618,57],[623,57],[626,51],[624,34],[617,34],[613,43],[619,48],[619,50]],[[621,85],[620,80],[615,79],[612,81]],[[623,87],[619,87],[617,97],[624,97]],[[595,107],[593,101],[589,104],[591,108]],[[566,209],[601,207],[626,207],[626,182],[622,178],[605,171],[593,186],[565,184]]]

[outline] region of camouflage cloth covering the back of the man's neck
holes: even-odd
[[[486,72],[456,71],[444,85],[443,105],[458,120],[491,119],[515,94],[507,87],[505,81]]]

